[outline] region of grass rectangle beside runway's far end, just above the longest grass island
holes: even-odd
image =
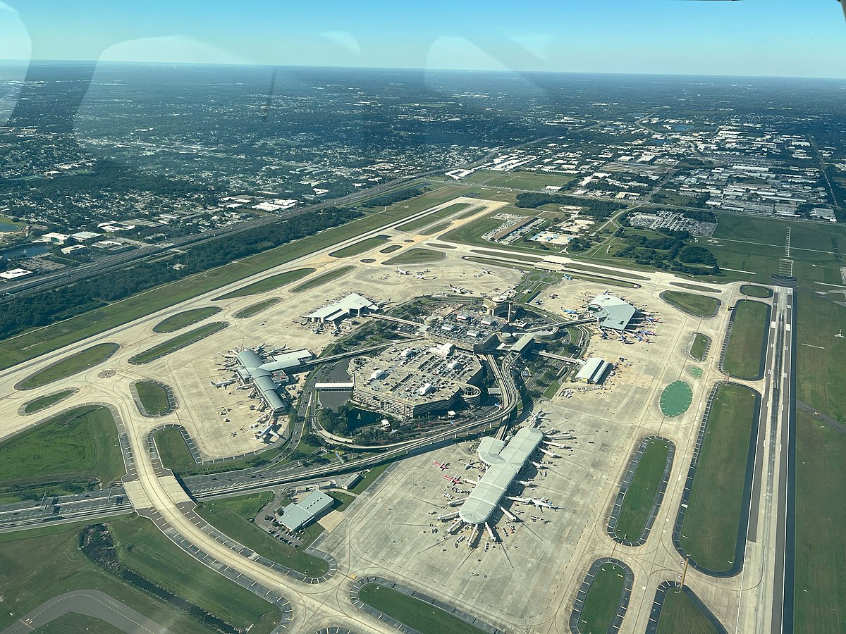
[[[770,307],[766,303],[741,299],[735,304],[732,334],[722,363],[728,374],[749,380],[761,376],[769,314]]]

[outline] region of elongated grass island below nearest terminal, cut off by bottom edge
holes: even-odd
[[[448,612],[378,583],[359,590],[360,600],[422,634],[481,634],[481,630]]]

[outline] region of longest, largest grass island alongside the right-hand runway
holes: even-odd
[[[690,558],[712,571],[734,562],[755,392],[742,385],[721,385],[711,406],[705,440],[681,527],[681,544]]]

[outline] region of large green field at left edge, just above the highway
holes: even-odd
[[[125,473],[118,430],[106,407],[75,407],[0,444],[0,491],[78,493]]]

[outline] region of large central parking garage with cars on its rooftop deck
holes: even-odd
[[[451,343],[393,346],[373,358],[355,357],[349,374],[353,402],[398,418],[442,412],[459,399],[469,406],[481,401],[475,385],[481,379],[481,363]]]

